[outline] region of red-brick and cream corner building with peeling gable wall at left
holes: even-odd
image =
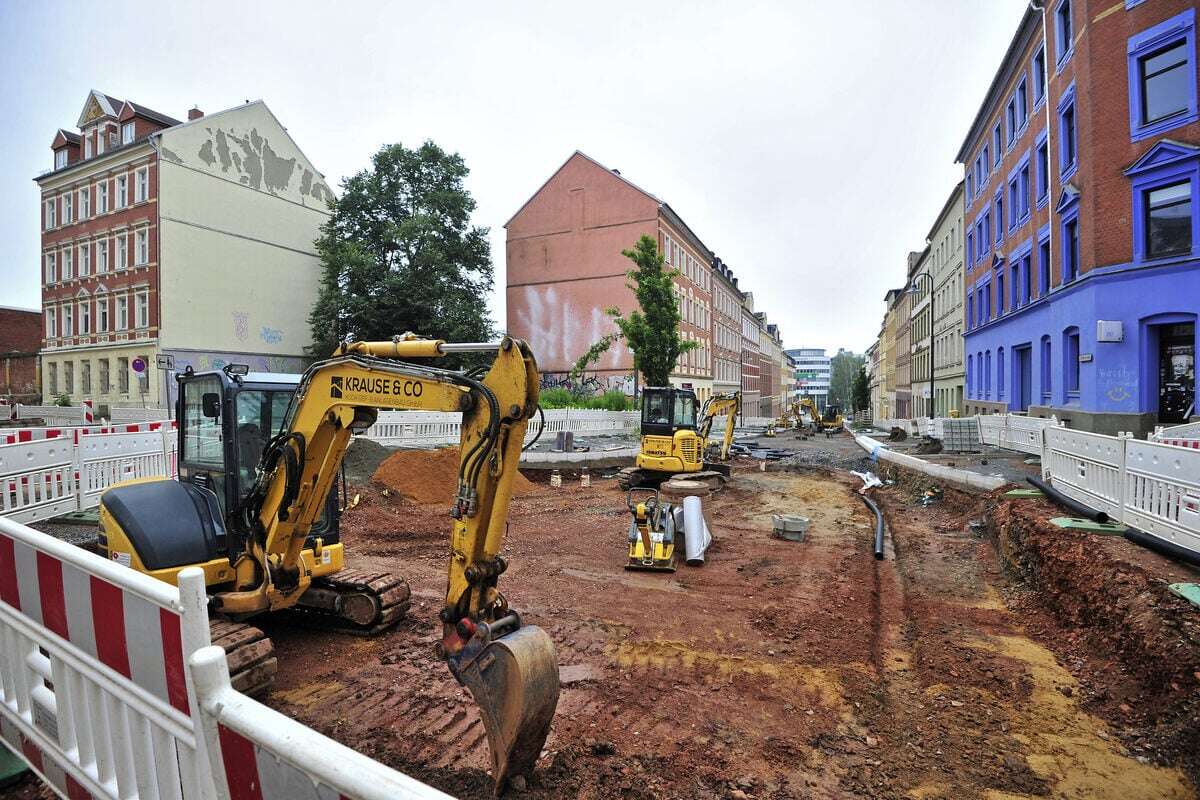
[[[332,193],[264,103],[187,122],[98,91],[42,206],[42,393],[164,405],[155,368],[299,372]]]

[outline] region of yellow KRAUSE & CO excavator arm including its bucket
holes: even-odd
[[[494,351],[496,357],[481,377],[402,361],[462,351]],[[377,409],[463,415],[439,650],[480,706],[499,793],[510,775],[533,769],[559,688],[550,637],[523,625],[497,588],[508,567],[500,549],[512,481],[538,409],[538,366],[524,342],[450,344],[404,335],[346,343],[314,363],[300,380],[283,432],[264,450],[241,509],[238,585],[214,595],[214,604],[252,614],[299,602],[312,583],[305,540],[352,433],[372,425]]]

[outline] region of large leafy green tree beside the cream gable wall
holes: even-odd
[[[320,291],[308,324],[323,357],[353,333],[382,339],[413,331],[457,342],[493,335],[487,228],[470,224],[467,166],[433,142],[384,145],[342,182],[322,225]]]

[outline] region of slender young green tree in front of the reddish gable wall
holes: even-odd
[[[624,339],[634,354],[634,369],[646,377],[646,385],[666,386],[679,356],[700,347],[697,342],[679,337],[682,317],[674,295],[674,278],[679,271],[666,269],[658,242],[649,236],[642,236],[634,249],[623,249],[620,254],[634,261],[634,269],[625,273],[629,277],[625,285],[637,297],[637,308],[628,315],[616,307],[606,308],[617,331],[588,348],[571,372],[582,373],[614,342]]]

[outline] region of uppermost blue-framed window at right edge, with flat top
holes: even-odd
[[[1129,137],[1133,142],[1200,120],[1195,18],[1195,8],[1188,8],[1129,37]]]

